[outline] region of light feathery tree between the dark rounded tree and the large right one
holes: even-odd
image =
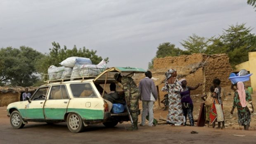
[[[205,53],[210,42],[209,39],[200,37],[194,33],[187,40],[182,41],[180,44],[190,53]]]

